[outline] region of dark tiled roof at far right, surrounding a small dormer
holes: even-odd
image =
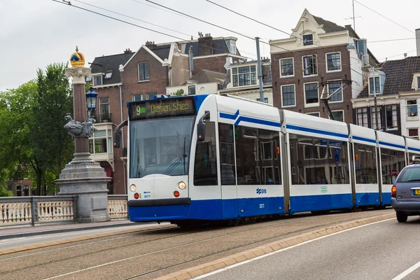
[[[420,57],[407,57],[399,60],[389,60],[382,64],[381,71],[385,73],[384,95],[412,91],[414,73],[420,73]],[[369,97],[366,86],[358,98]]]

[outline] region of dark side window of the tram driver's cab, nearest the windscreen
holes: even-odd
[[[195,147],[194,185],[217,184],[216,125],[214,122],[206,122],[206,138],[197,141]]]

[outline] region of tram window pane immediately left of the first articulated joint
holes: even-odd
[[[276,153],[280,143],[279,132],[259,130],[260,160],[262,171],[262,184],[280,185],[280,157]]]

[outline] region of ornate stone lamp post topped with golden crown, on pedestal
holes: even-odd
[[[79,223],[110,221],[108,214],[108,189],[106,183],[111,178],[90,158],[89,137],[94,134],[95,120],[87,118],[87,109],[96,107],[97,93],[93,88],[85,93],[85,77],[90,76],[90,68],[85,67],[85,56],[78,52],[71,55],[71,67],[66,69],[66,76],[71,77],[73,86],[73,116],[67,114],[64,125],[71,137],[74,137],[74,158],[66,165],[56,181],[59,195],[76,195],[75,214]]]

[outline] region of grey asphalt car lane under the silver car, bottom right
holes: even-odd
[[[419,226],[419,217],[372,223],[197,279],[420,279]]]

